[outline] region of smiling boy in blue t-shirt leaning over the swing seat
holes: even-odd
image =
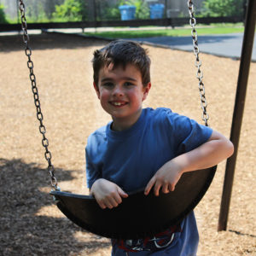
[[[117,40],[96,50],[94,88],[113,121],[96,130],[86,146],[90,194],[103,209],[118,207],[128,192],[170,193],[183,172],[218,164],[233,153],[228,139],[168,108],[142,108],[151,87],[150,60],[139,44]],[[147,241],[112,240],[113,256],[196,255],[194,212]]]

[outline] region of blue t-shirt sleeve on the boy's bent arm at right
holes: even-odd
[[[212,135],[212,129],[198,124],[194,119],[177,113],[167,113],[167,120],[172,127],[172,137],[175,138],[177,155],[189,152],[206,143]]]

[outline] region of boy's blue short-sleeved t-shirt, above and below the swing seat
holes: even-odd
[[[96,179],[103,177],[128,193],[143,189],[167,161],[206,143],[212,135],[209,127],[172,113],[169,108],[144,108],[137,122],[125,131],[111,130],[111,123],[88,137],[86,176],[89,188]],[[174,234],[172,243],[164,249],[150,254],[147,248],[139,251],[140,247],[134,254],[160,256],[165,252],[165,255],[195,255],[198,232],[194,212],[183,219]],[[113,242],[113,255],[125,255],[125,248]],[[133,255],[133,250],[129,253]]]

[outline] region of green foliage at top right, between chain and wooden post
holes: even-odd
[[[204,16],[241,16],[243,14],[243,0],[205,0],[203,2]]]

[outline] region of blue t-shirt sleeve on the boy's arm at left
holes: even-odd
[[[96,181],[96,179],[100,178],[101,172],[94,163],[94,147],[93,147],[93,139],[88,137],[87,146],[85,148],[85,160],[86,160],[86,182],[87,187],[90,189],[92,184]]]

